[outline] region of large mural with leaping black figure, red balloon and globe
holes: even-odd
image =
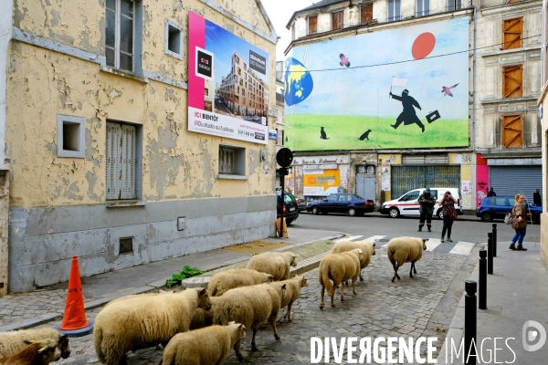
[[[293,151],[469,146],[469,18],[293,47]]]

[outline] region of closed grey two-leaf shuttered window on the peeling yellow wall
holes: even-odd
[[[136,199],[137,127],[107,122],[107,200]]]

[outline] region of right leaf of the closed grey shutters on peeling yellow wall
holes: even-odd
[[[135,127],[121,126],[121,199],[135,199]]]

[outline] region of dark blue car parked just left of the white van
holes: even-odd
[[[312,214],[346,213],[350,216],[373,210],[373,200],[365,200],[353,193],[334,193],[323,200],[310,202],[306,207],[306,211]]]

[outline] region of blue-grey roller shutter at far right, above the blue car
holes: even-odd
[[[543,188],[543,167],[490,166],[489,183],[497,196],[523,193],[532,202],[532,193]]]

